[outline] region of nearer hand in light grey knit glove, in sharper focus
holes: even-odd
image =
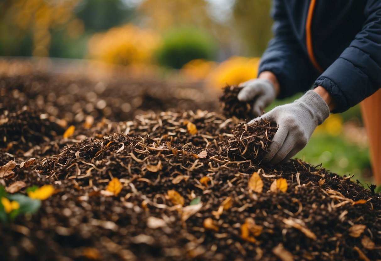
[[[278,124],[279,128],[269,146],[264,160],[277,164],[290,159],[306,146],[312,132],[330,115],[327,103],[314,91],[308,91],[293,103],[275,107],[268,113],[249,122],[266,119]]]

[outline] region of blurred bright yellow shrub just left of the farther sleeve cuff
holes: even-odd
[[[206,81],[215,88],[223,88],[226,84],[239,84],[256,78],[258,66],[259,58],[232,56],[212,70]]]

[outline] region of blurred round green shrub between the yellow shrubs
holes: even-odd
[[[166,33],[156,57],[160,65],[179,69],[194,59],[213,60],[215,54],[215,41],[206,32],[177,28]]]

